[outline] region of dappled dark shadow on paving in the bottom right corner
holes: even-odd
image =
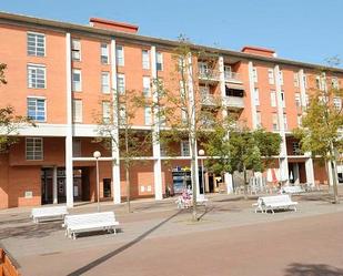
[[[284,276],[343,276],[343,269],[324,264],[290,264]]]

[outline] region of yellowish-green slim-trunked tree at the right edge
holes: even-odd
[[[327,88],[324,72],[320,74],[319,89],[312,90],[310,105],[302,117],[301,127],[294,130],[294,136],[300,140],[303,152],[311,152],[322,163],[332,168],[333,202],[340,203],[335,161],[343,152],[342,141],[342,89],[333,83]],[[340,102],[340,103],[337,103]],[[330,175],[326,165],[327,176]]]

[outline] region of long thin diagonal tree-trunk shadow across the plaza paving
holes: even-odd
[[[84,273],[87,273],[88,270],[94,268],[95,266],[107,262],[108,259],[114,257],[115,255],[122,253],[123,251],[130,248],[131,246],[135,245],[137,243],[141,242],[143,238],[145,238],[147,236],[149,236],[152,232],[154,232],[155,229],[160,228],[163,224],[168,223],[170,219],[172,219],[173,217],[178,216],[182,211],[178,211],[175,214],[173,214],[172,216],[165,218],[164,221],[162,221],[161,223],[159,223],[158,225],[155,225],[154,227],[152,227],[151,229],[144,232],[142,235],[138,236],[137,238],[134,238],[133,241],[131,241],[130,243],[119,247],[118,249],[110,252],[105,255],[103,255],[100,258],[94,259],[93,262],[89,263],[88,265],[68,274],[68,276],[78,276],[78,275],[82,275]]]

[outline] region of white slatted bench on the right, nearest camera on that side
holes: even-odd
[[[296,212],[295,205],[297,202],[293,202],[290,195],[274,195],[274,196],[262,196],[259,197],[258,203],[253,204],[256,206],[255,213],[261,211],[266,213],[269,209],[274,214],[274,209],[289,209],[293,208]]]

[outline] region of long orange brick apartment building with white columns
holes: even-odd
[[[21,127],[19,143],[0,155],[0,208],[58,203],[72,207],[77,201],[94,201],[94,151],[101,152],[100,198],[118,204],[127,195],[120,150],[94,141],[97,114],[108,116],[113,91],[141,91],[153,102],[151,82],[157,78],[180,96],[170,76],[178,42],[143,37],[138,29],[97,18],[80,25],[0,12],[0,62],[8,65],[1,106],[12,105],[37,123]],[[319,65],[279,59],[274,51],[255,47],[240,52],[194,48],[218,54],[214,67],[205,59],[194,62],[203,105],[218,95],[224,113],[236,114],[251,129],[280,133],[282,151],[274,166],[282,180],[292,175],[295,183],[331,181],[310,153],[300,153],[292,129],[301,122],[311,89],[339,86],[342,69],[319,74]],[[342,105],[342,99],[334,101]],[[134,129],[159,132],[152,127],[154,115],[149,106],[137,109]],[[190,146],[182,141],[174,147],[179,156],[165,156],[163,146],[154,143],[150,154],[133,164],[131,197],[162,200],[167,188],[178,192],[189,178]],[[215,180],[205,173],[205,192],[216,191]],[[232,175],[225,174],[223,182],[232,192]]]

